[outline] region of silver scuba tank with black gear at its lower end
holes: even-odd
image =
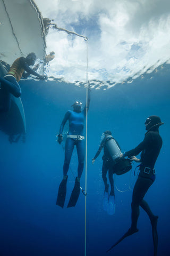
[[[132,169],[130,159],[120,157],[121,149],[118,147],[112,135],[106,135],[106,148],[113,161],[113,172],[122,175]]]

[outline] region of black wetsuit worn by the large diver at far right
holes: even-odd
[[[141,151],[141,164],[140,173],[135,183],[132,196],[132,229],[137,228],[137,221],[139,217],[139,206],[145,210],[152,221],[154,214],[151,212],[149,205],[143,197],[147,193],[149,187],[155,180],[154,166],[159,155],[160,149],[162,148],[162,138],[159,135],[159,131],[149,131],[146,133],[144,140],[134,149],[124,153],[124,156],[137,156]],[[145,167],[150,168],[150,172],[147,174]]]

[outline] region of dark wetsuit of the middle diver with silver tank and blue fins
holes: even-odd
[[[108,171],[108,178],[109,178],[109,181],[111,183],[111,195],[113,196],[115,194],[114,193],[114,181],[113,181],[113,173],[114,173],[114,170],[113,170],[113,160],[112,160],[111,154],[109,154],[109,151],[108,151],[108,149],[106,147],[106,139],[107,138],[108,137],[105,136],[104,139],[101,141],[99,149],[98,149],[94,159],[96,160],[96,158],[100,154],[101,150],[104,148],[104,155],[102,157],[102,159],[103,159],[102,178],[103,178],[103,181],[105,183],[105,191],[107,191],[108,184],[107,184],[106,174],[107,174],[107,171]],[[116,143],[117,143],[117,141],[116,141]],[[117,143],[117,145],[118,145],[118,143]],[[118,147],[120,148],[119,145],[118,145]]]

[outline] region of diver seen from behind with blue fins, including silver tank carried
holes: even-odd
[[[131,169],[131,164],[128,161],[121,161],[120,155],[121,148],[118,145],[118,142],[112,137],[111,131],[104,132],[104,138],[100,143],[99,149],[92,159],[92,164],[94,164],[96,158],[100,154],[101,150],[104,148],[103,165],[102,165],[102,178],[105,184],[104,191],[104,210],[108,212],[108,214],[112,215],[115,212],[115,191],[114,191],[114,181],[113,181],[113,173],[117,173],[118,175],[123,174]],[[128,163],[128,164],[127,164]],[[108,196],[108,183],[106,174],[108,171],[108,177],[111,184],[111,192]]]

